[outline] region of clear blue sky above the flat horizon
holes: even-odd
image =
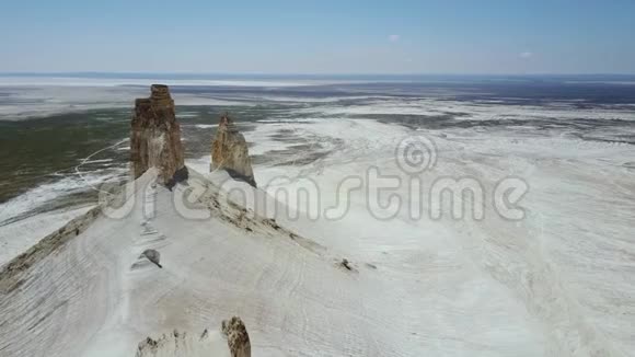
[[[635,73],[635,1],[3,0],[0,72]]]

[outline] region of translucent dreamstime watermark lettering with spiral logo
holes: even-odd
[[[440,165],[435,141],[417,135],[401,140],[394,149],[394,164],[370,165],[365,172],[345,175],[334,185],[325,187],[313,177],[276,176],[255,191],[249,185],[227,180],[219,185],[190,177],[172,193],[174,209],[186,219],[205,220],[212,217],[209,201],[216,208],[251,208],[247,212],[288,220],[340,220],[351,212],[351,206],[363,205],[374,219],[395,218],[411,220],[482,220],[496,214],[506,220],[522,220],[526,211],[521,205],[529,184],[518,176],[501,177],[496,182],[482,182],[475,176],[452,176],[435,170]],[[442,163],[442,160],[441,160]],[[394,169],[397,168],[397,170]],[[122,219],[135,209],[135,193],[143,195],[145,215],[157,208],[151,199],[157,183],[138,187],[139,181],[127,183],[118,194],[114,187],[100,187],[104,214]],[[263,194],[263,191],[267,194]],[[207,205],[206,205],[207,204]],[[232,204],[234,204],[232,206]]]

